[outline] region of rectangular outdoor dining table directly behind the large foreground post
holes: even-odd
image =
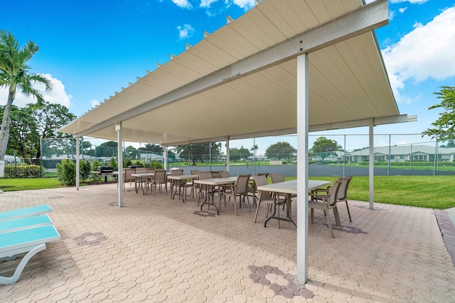
[[[320,187],[324,187],[324,186],[327,186],[330,184],[332,184],[332,182],[323,181],[323,180],[308,180],[308,190],[311,192],[311,190],[318,189]],[[290,180],[290,181],[277,182],[277,183],[272,183],[272,184],[267,184],[267,185],[261,185],[261,186],[257,187],[257,190],[259,192],[264,190],[267,192],[275,193],[274,211],[273,211],[272,216],[269,216],[269,218],[267,218],[267,220],[264,222],[264,227],[267,227],[267,221],[269,221],[270,219],[288,221],[297,227],[297,224],[292,219],[291,212],[289,210],[290,206],[291,206],[290,196],[291,196],[291,194],[297,194],[297,185],[298,185],[297,180]],[[282,202],[282,203],[287,203],[286,218],[283,218],[280,216],[275,216],[277,214],[277,196],[278,196],[278,194],[287,194],[287,198],[284,200],[284,202]]]

